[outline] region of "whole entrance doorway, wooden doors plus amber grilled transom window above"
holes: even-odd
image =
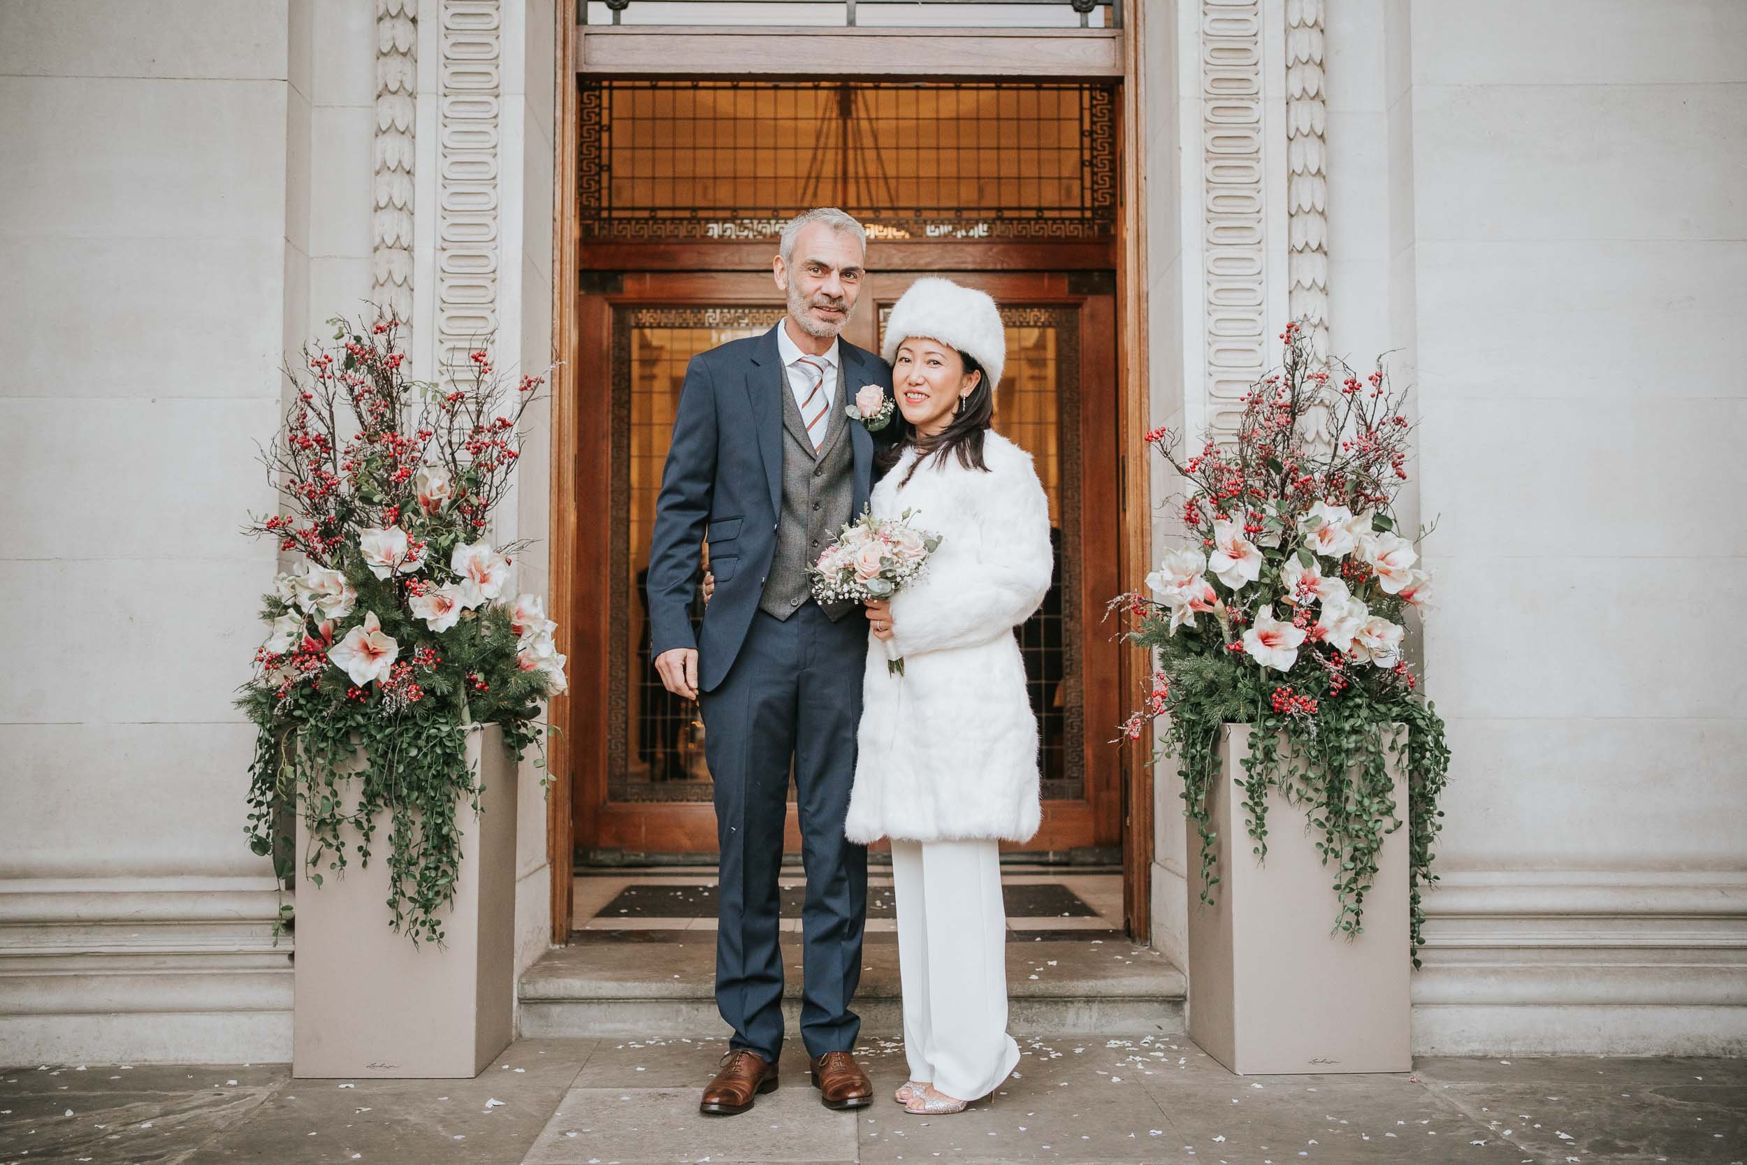
[[[1104,622],[1134,573],[1134,520],[1144,524],[1125,512],[1118,105],[1108,75],[578,80],[566,227],[578,285],[556,430],[568,466],[552,498],[568,547],[554,596],[575,627],[568,796],[552,835],[564,859],[708,865],[716,851],[704,725],[648,658],[655,496],[688,360],[777,325],[776,236],[826,204],[870,238],[847,341],[879,351],[886,314],[922,274],[1001,304],[1010,370],[994,426],[1034,456],[1057,540],[1050,596],[1017,629],[1043,746],[1043,828],[1010,849],[1032,863],[1122,863],[1132,924],[1150,847],[1132,844],[1132,765],[1109,742],[1130,662]],[[798,852],[793,814],[788,845]],[[554,898],[556,931],[568,901],[568,887]]]

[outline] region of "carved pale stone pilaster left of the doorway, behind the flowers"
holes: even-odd
[[[510,377],[552,363],[552,0],[419,0],[414,178],[414,358],[418,376],[470,377],[487,342]],[[568,91],[568,89],[566,89]],[[545,596],[550,541],[547,409],[528,414],[512,493],[491,536],[533,540],[517,590]],[[563,613],[552,613],[564,618]],[[517,968],[550,936],[545,795],[533,755],[521,769]]]

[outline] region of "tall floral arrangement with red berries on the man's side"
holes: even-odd
[[[370,859],[390,821],[391,926],[442,941],[459,866],[456,807],[479,810],[466,732],[503,727],[512,756],[543,741],[564,657],[536,596],[514,596],[522,543],[493,547],[491,514],[521,458],[519,423],[545,383],[510,389],[484,351],[449,391],[405,374],[398,321],[330,320],[334,346],[288,369],[295,395],[262,463],[283,512],[245,533],[278,541],[290,569],[264,597],[269,627],[238,706],[257,728],[248,835],[290,873],[299,810],[309,880],[344,872],[344,826]],[[360,782],[355,812],[342,782]]]

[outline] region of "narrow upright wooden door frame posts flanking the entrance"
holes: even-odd
[[[552,374],[552,459],[550,459],[550,606],[573,610],[573,564],[580,547],[577,514],[570,500],[577,498],[580,480],[578,409],[575,405],[577,367],[582,355],[578,278],[582,271],[582,229],[577,206],[577,133],[578,101],[577,79],[580,44],[568,5],[554,5],[554,208],[552,208],[552,348],[559,365]],[[1148,35],[1143,5],[1134,5],[1129,26],[1122,35],[1120,124],[1120,218],[1116,246],[1116,344],[1118,393],[1116,424],[1122,442],[1118,501],[1122,507],[1120,571],[1125,580],[1139,580],[1151,554],[1151,465],[1146,459],[1144,431],[1150,426],[1146,349],[1146,175],[1141,166],[1146,143],[1144,75],[1141,72],[1141,45]],[[1027,54],[1029,56],[1029,54]],[[950,79],[950,77],[945,77]],[[559,648],[571,660],[582,660],[583,638],[599,638],[596,629],[561,625]],[[594,655],[604,651],[594,643]],[[1122,651],[1118,662],[1118,692],[1132,697],[1148,672],[1146,660],[1136,651]],[[554,697],[549,721],[559,730],[547,746],[547,765],[552,784],[547,795],[547,863],[550,873],[552,941],[564,945],[571,929],[571,889],[575,854],[575,807],[571,803],[571,749],[577,744],[564,727],[571,723],[575,700]],[[604,741],[603,741],[604,746]],[[1153,765],[1143,749],[1129,749],[1123,769],[1122,835],[1123,835],[1123,917],[1129,934],[1139,941],[1151,938],[1151,866],[1153,866]]]

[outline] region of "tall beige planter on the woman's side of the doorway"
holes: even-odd
[[[1406,728],[1398,727],[1406,742]],[[1331,936],[1335,872],[1321,863],[1303,809],[1268,791],[1268,856],[1258,863],[1244,826],[1249,725],[1226,725],[1219,774],[1209,791],[1218,833],[1214,905],[1195,870],[1200,837],[1188,824],[1190,1037],[1240,1076],[1268,1072],[1406,1072],[1408,830],[1405,755],[1389,756],[1396,816],[1364,898],[1364,933]]]

